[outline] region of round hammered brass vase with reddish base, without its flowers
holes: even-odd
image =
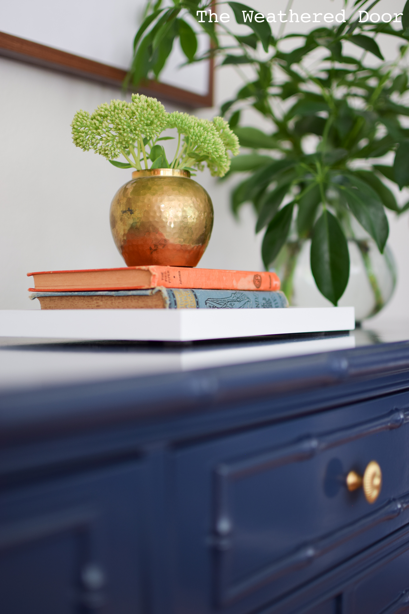
[[[196,266],[212,232],[213,205],[188,171],[134,171],[113,197],[110,224],[127,266]]]

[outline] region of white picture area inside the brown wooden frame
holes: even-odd
[[[169,0],[164,4],[170,4]],[[143,0],[19,0],[2,2],[0,31],[55,47],[91,60],[128,69],[132,42],[142,21]],[[67,10],[69,9],[69,10]],[[188,17],[196,29],[199,26]],[[199,39],[199,49],[207,49],[207,39]],[[162,71],[161,80],[198,94],[207,92],[207,63],[183,66],[186,57],[179,42]]]

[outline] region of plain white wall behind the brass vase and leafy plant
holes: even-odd
[[[264,9],[257,0],[250,4]],[[104,101],[120,98],[121,92],[4,58],[0,83],[0,308],[38,308],[37,301],[27,298],[28,271],[124,264],[110,235],[108,212],[130,171],[75,148],[70,128],[75,111],[93,111]],[[216,72],[216,104],[229,99],[239,84],[230,68]],[[216,112],[203,109],[197,114],[212,117]],[[256,114],[245,118],[251,125],[259,122]],[[207,171],[197,179],[215,208],[212,238],[199,266],[261,269],[262,236],[254,236],[250,206],[242,208],[239,222],[229,211],[234,180],[219,182]],[[398,196],[401,203],[409,198]],[[399,220],[389,216],[399,282],[381,318],[407,316],[408,215]]]

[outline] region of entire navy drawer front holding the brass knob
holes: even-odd
[[[207,593],[210,610],[244,612],[409,522],[404,401],[362,403],[179,451],[178,535],[189,540],[180,582]],[[346,487],[348,473],[362,475],[370,461],[383,474],[373,503],[362,488]]]

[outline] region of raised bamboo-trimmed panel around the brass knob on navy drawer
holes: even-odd
[[[408,437],[405,414],[396,411],[218,465],[214,545],[221,604],[399,516],[409,507],[409,484],[399,500],[388,500],[388,491],[391,497],[402,492],[400,480],[390,475],[390,456],[399,449],[408,464]],[[349,492],[345,483],[350,469],[363,473],[374,458],[384,467],[386,486],[377,504],[369,505],[362,490]]]

